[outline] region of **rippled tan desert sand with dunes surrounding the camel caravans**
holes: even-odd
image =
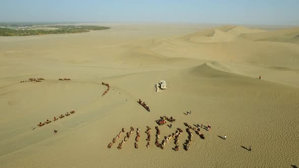
[[[299,28],[106,24],[111,29],[0,37],[0,167],[299,165]],[[45,80],[20,82],[31,77]],[[156,93],[160,80],[168,89]],[[104,96],[101,82],[110,86]],[[179,151],[173,139],[155,146],[163,115],[176,120],[159,126],[160,142],[181,128]],[[183,122],[211,125],[201,129],[204,140],[193,133],[188,151]],[[141,129],[138,149],[136,133],[121,150],[124,134],[107,148],[130,127]]]

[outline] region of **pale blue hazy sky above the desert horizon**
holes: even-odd
[[[299,0],[0,0],[0,22],[299,24]]]

